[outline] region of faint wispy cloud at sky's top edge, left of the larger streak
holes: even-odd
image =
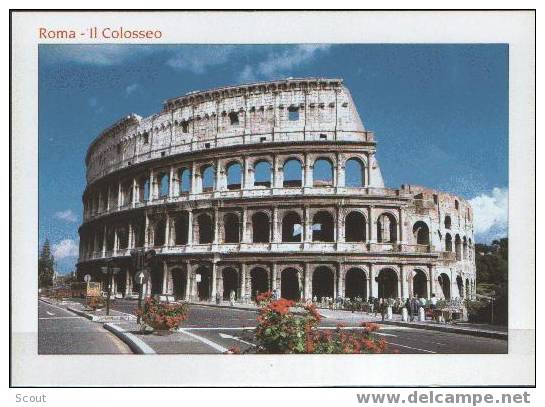
[[[233,45],[187,47],[168,59],[167,65],[181,71],[203,74],[208,67],[226,63],[234,51]]]

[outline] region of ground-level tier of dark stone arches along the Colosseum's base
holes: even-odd
[[[455,299],[476,295],[475,273],[430,264],[373,264],[352,262],[214,261],[161,259],[151,267],[144,295],[168,294],[186,301],[248,302],[266,291],[281,297],[320,301],[323,298]],[[78,276],[106,286],[100,262],[80,264]],[[121,296],[139,292],[134,270],[127,263],[112,278],[112,291]]]

